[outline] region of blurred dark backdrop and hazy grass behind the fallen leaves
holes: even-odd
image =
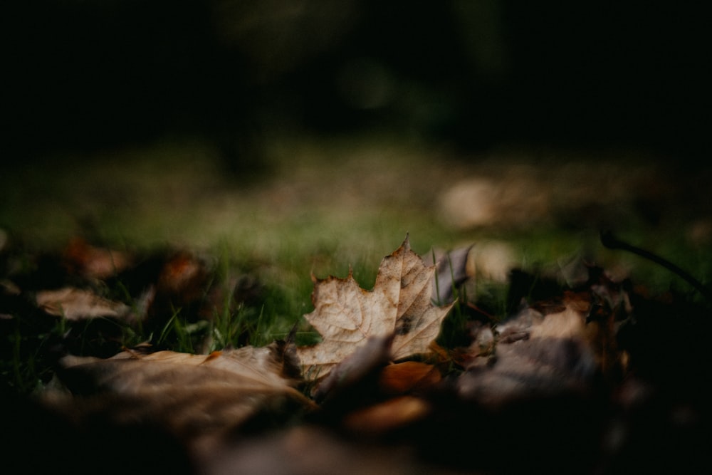
[[[606,228],[668,256],[691,249],[681,263],[710,271],[700,253],[712,243],[712,42],[701,5],[28,0],[3,10],[8,236],[226,241],[233,255],[292,259],[308,280],[314,256],[329,273],[325,256],[376,265],[407,232],[419,253],[493,236],[543,259],[600,249]]]

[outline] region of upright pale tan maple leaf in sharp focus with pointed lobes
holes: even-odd
[[[323,340],[298,348],[303,374],[311,380],[324,377],[369,338],[394,335],[391,359],[426,353],[440,333],[452,305],[431,302],[435,266],[426,266],[410,249],[408,236],[390,256],[384,257],[372,291],[360,288],[350,273],[316,280],[314,311],[304,315]]]

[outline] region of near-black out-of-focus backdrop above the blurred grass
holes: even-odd
[[[276,134],[377,130],[706,159],[708,19],[656,1],[9,1],[5,153],[194,135],[244,167]]]

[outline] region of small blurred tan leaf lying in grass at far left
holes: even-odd
[[[35,298],[42,310],[50,315],[64,316],[67,320],[120,317],[130,310],[124,303],[107,300],[81,288],[39,291]]]

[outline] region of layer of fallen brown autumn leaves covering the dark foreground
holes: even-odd
[[[126,328],[166,330],[176,304],[193,308],[196,321],[218,305],[204,261],[179,251],[137,263],[122,253],[110,272],[110,251],[70,249],[66,275],[9,273],[3,284],[9,343],[20,341],[13,328],[24,320],[49,333],[48,319],[69,325],[40,340],[53,371],[38,396],[15,399],[21,410],[7,418],[16,434],[10,447],[29,467],[90,466],[62,456],[28,462],[37,444],[58,455],[83,444],[87,463],[134,450],[172,457],[138,471],[182,461],[178,472],[200,474],[599,474],[679,471],[704,457],[710,303],[649,296],[591,263],[563,278],[512,268],[506,314],[493,315],[481,296],[463,291],[482,277],[481,265],[473,270],[482,246],[426,263],[406,238],[382,260],[370,291],[351,273],[313,278],[314,310],[303,317],[319,343],[296,345],[293,330],[263,347],[198,354],[162,348],[157,331],[125,343]],[[103,263],[93,266],[88,255]],[[62,268],[43,266],[39,273]],[[109,290],[119,273],[132,276],[122,280],[132,305]],[[447,291],[439,291],[443,282]],[[459,323],[450,321],[456,313]],[[448,324],[461,333],[456,340],[443,340]],[[50,429],[24,436],[27,420]],[[117,473],[137,469],[128,460],[114,465]]]

